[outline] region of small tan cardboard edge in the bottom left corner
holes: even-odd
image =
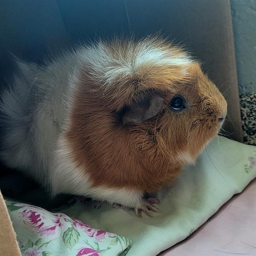
[[[0,190],[0,255],[21,256],[16,234]]]

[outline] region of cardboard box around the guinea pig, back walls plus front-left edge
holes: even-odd
[[[9,50],[26,60],[40,61],[45,54],[59,52],[79,40],[114,34],[145,36],[160,30],[200,59],[210,79],[226,92],[228,117],[224,129],[230,138],[242,141],[229,0],[0,2],[0,54]],[[0,233],[6,234],[0,236],[0,255],[19,255],[2,197],[0,214]],[[16,249],[8,254],[4,248],[10,246]]]

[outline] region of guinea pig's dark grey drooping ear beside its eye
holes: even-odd
[[[135,102],[122,116],[123,124],[138,124],[158,114],[163,106],[164,99],[155,94],[140,102]]]

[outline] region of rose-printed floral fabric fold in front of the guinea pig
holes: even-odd
[[[22,256],[122,256],[132,240],[66,214],[6,200]]]

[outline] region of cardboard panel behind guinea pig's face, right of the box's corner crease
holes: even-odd
[[[225,94],[228,117],[224,129],[242,141],[232,17],[229,0],[125,0],[130,31],[160,31],[185,44]]]

